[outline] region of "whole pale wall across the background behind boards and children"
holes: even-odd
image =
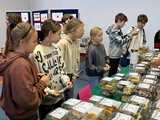
[[[88,36],[90,28],[96,25],[105,31],[119,12],[124,12],[128,16],[129,21],[124,28],[126,32],[131,25],[135,25],[137,15],[145,13],[149,17],[145,29],[150,48],[153,48],[154,34],[160,28],[159,0],[0,0],[0,2],[0,47],[4,45],[5,40],[6,11],[76,8],[79,9],[80,18],[85,23],[84,36]],[[104,42],[107,46],[105,34]]]

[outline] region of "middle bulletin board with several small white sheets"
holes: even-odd
[[[38,32],[38,41],[42,40],[41,26],[48,19],[48,10],[32,11],[33,26]]]

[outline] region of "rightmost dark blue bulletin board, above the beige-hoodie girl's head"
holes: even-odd
[[[79,19],[79,10],[78,9],[55,9],[51,10],[51,18],[55,21],[60,22],[63,15],[70,14],[74,16],[75,18]]]

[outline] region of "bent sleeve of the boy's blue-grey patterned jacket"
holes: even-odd
[[[121,46],[124,45],[125,43],[127,43],[132,38],[131,33],[128,33],[124,36],[121,36],[121,35],[119,35],[118,31],[111,32],[110,36],[117,44],[120,44]]]

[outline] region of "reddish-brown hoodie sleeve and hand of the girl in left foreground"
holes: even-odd
[[[29,64],[17,64],[12,69],[11,76],[13,101],[24,109],[38,108],[45,95],[44,89],[47,85],[42,81],[34,83],[34,76]]]

